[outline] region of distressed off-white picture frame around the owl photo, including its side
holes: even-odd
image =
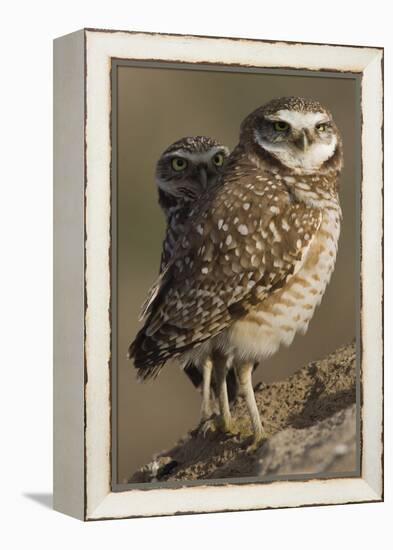
[[[361,76],[361,475],[241,485],[111,483],[114,59]],[[84,29],[54,43],[54,507],[82,520],[383,499],[383,50]]]

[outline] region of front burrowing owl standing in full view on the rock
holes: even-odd
[[[305,333],[337,254],[342,143],[327,109],[276,99],[242,123],[219,186],[199,205],[155,289],[130,347],[140,378],[170,357],[234,357],[254,430],[264,435],[252,387],[254,362]],[[231,417],[224,374],[219,404]]]

